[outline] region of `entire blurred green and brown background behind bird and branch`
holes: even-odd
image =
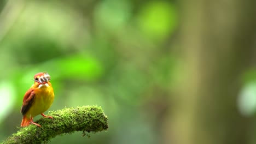
[[[49,143],[256,143],[255,5],[0,1],[0,141],[48,71],[49,111],[98,105],[109,118],[107,132]]]

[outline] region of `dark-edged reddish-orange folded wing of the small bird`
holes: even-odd
[[[34,91],[33,89],[28,89],[28,91],[25,93],[23,98],[23,103],[20,112],[22,115],[25,115],[27,111],[30,109],[30,107],[33,104],[34,101]]]

